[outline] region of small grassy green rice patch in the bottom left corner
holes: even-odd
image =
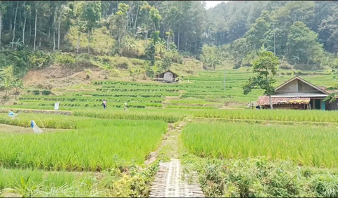
[[[98,184],[94,173],[0,168],[0,196],[14,192],[17,197],[105,197]]]

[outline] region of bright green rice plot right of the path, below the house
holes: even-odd
[[[311,126],[257,124],[188,124],[182,140],[199,157],[241,159],[266,156],[295,164],[337,167],[337,131]]]

